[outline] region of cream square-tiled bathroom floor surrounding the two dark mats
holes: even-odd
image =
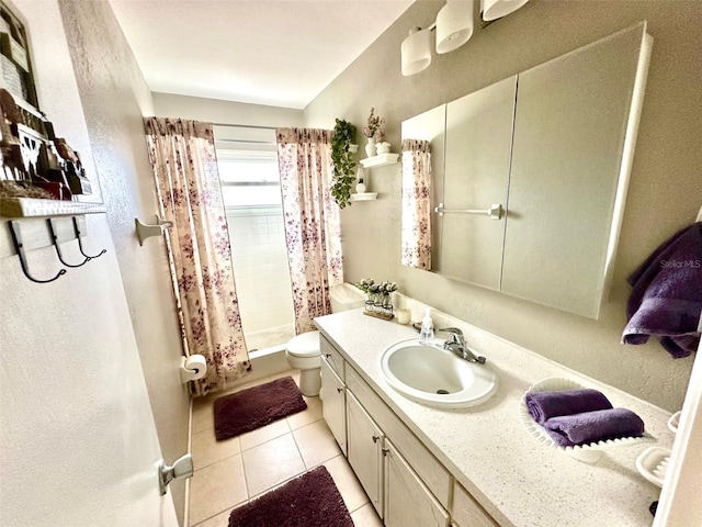
[[[354,525],[382,527],[322,418],[319,397],[305,397],[307,410],[267,427],[225,441],[215,440],[212,405],[216,397],[285,375],[299,381],[299,372],[291,370],[195,401],[192,423],[195,474],[190,486],[189,525],[226,527],[229,512],[237,505],[324,464]]]

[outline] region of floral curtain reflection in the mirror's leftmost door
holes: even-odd
[[[431,269],[431,145],[403,141],[401,262]]]

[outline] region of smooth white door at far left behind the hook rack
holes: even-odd
[[[97,182],[58,2],[10,7],[32,35],[42,110]],[[158,495],[161,453],[107,217],[88,216],[83,240],[87,251],[107,253],[46,284],[27,280],[19,258],[7,256],[7,223],[0,221],[0,524],[174,527],[171,496]],[[45,218],[21,226],[48,240]],[[64,244],[67,261],[78,261],[76,246]],[[27,258],[39,278],[59,267],[50,246]]]

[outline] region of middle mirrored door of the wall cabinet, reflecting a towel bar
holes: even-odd
[[[444,213],[438,270],[446,277],[499,291],[517,77],[446,104]]]

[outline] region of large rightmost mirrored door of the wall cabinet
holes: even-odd
[[[597,318],[645,78],[639,25],[519,75],[502,292]]]

